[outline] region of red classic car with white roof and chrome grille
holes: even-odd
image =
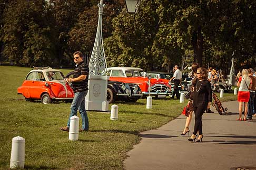
[[[150,94],[156,98],[165,98],[171,94],[171,84],[168,80],[152,78],[149,81],[143,74],[144,71],[141,68],[135,67],[110,67],[106,71],[110,81],[138,84],[144,97]]]

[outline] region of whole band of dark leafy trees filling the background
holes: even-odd
[[[69,66],[81,50],[90,57],[98,22],[91,0],[0,0],[0,60],[20,66]],[[135,15],[124,1],[103,1],[107,66],[171,71],[199,62],[228,74],[255,67],[255,1],[141,1]]]

